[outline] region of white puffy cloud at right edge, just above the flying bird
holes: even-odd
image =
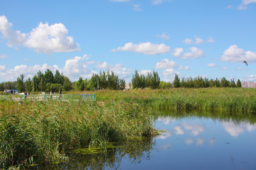
[[[251,51],[244,51],[238,48],[237,45],[231,45],[227,50],[220,56],[222,61],[230,62],[256,62],[256,53]]]

